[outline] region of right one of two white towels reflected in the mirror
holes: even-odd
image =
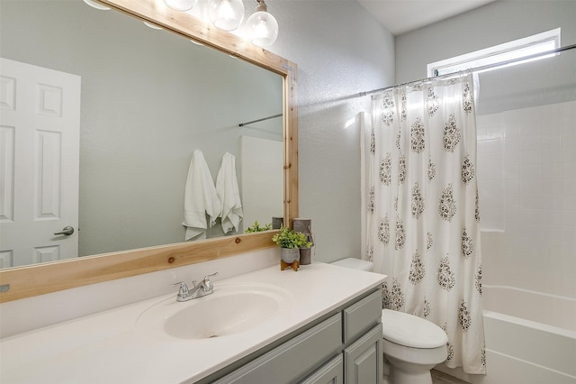
[[[242,202],[236,178],[236,158],[224,153],[222,164],[216,177],[216,193],[222,202],[222,231],[229,233],[232,228],[238,232],[238,225],[242,220]]]

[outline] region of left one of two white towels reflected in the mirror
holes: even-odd
[[[216,223],[222,204],[216,193],[208,164],[202,151],[193,151],[186,187],[184,190],[184,222],[186,227],[185,240],[193,238],[205,239],[206,214],[210,217],[210,226]]]

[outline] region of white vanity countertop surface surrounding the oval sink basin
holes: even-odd
[[[137,326],[139,315],[170,297],[175,301],[175,293],[17,334],[0,340],[0,382],[193,382],[326,315],[383,283],[384,278],[313,263],[297,272],[275,266],[229,279],[212,279],[214,296],[219,285],[254,283],[287,290],[291,297],[286,299],[282,314],[273,320],[242,333],[210,339],[179,339],[156,328],[148,329],[141,322]]]

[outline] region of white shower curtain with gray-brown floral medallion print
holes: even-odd
[[[389,277],[383,307],[448,335],[446,366],[485,373],[471,73],[372,101],[366,259]]]

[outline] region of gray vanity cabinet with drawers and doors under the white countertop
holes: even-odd
[[[252,360],[233,364],[201,383],[381,384],[380,290],[351,300],[318,324],[304,327]]]

